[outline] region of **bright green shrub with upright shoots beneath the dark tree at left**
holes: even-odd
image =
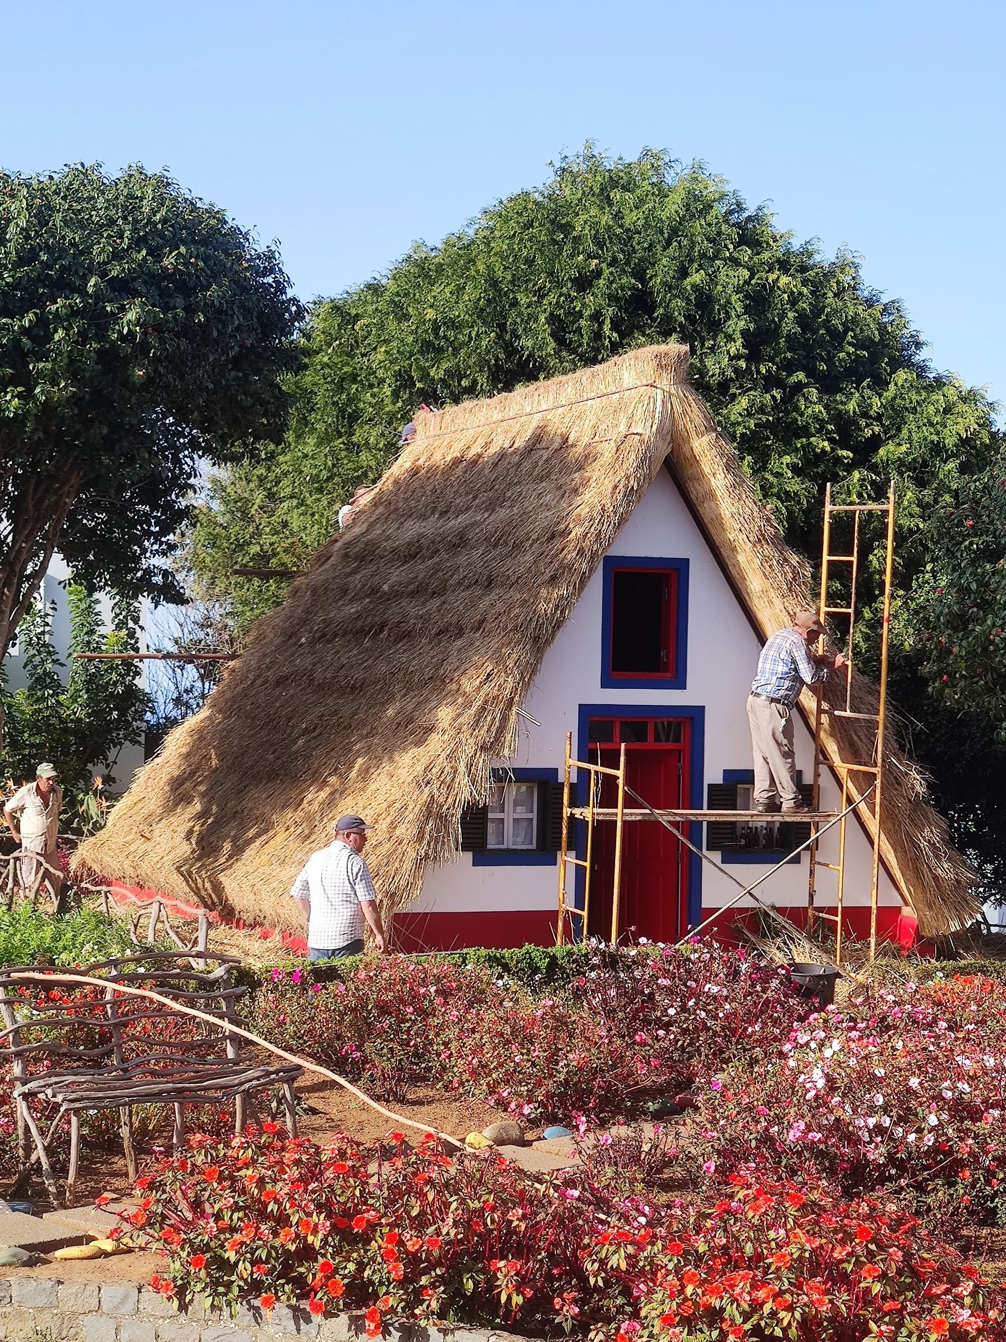
[[[67,599],[71,655],[137,650],[134,601],[118,595],[111,599],[114,628],[106,633],[98,603],[83,585],[71,582]],[[91,769],[114,766],[123,745],[144,739],[148,696],[135,662],[75,660],[64,683],[51,627],[52,611],[38,603],[21,620],[25,684],[3,692],[7,734],[0,762],[5,778],[24,782],[40,760],[51,760],[63,786],[74,789],[90,784]]]

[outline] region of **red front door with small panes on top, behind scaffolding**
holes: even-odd
[[[592,718],[592,764],[618,768],[625,745],[625,781],[655,809],[685,805],[688,796],[687,718]],[[614,807],[616,780],[602,774],[598,805]],[[640,809],[626,796],[626,809]],[[614,884],[614,824],[594,824],[588,931],[612,935]],[[626,821],[622,827],[622,875],[618,935],[632,941],[677,941],[688,930],[688,849],[656,820]]]

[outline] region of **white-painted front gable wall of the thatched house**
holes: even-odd
[[[685,507],[673,480],[661,471],[640,501],[617,541],[608,552],[613,556],[652,558],[687,558],[688,577],[688,654],[684,690],[604,688],[601,684],[601,608],[602,566],[577,603],[573,615],[547,651],[535,683],[523,707],[541,722],[541,727],[520,718],[519,749],[510,761],[514,768],[551,768],[562,777],[566,733],[577,741],[581,705],[660,705],[668,717],[684,706],[706,710],[703,798],[706,784],[720,782],[726,769],[751,768],[751,743],[747,727],[746,699],[758,663],[761,643],[740,605],[723,577],[715,558]],[[795,722],[797,766],[805,781],[813,776],[813,737],[801,718]],[[704,800],[703,800],[704,805]],[[822,809],[837,809],[838,788],[830,773],[824,780]],[[710,854],[716,866],[720,855]],[[821,840],[824,862],[837,859],[837,829]],[[750,884],[767,871],[765,864],[746,862],[728,864],[718,872],[702,864],[702,907],[710,910],[727,903],[738,887],[735,876]],[[730,875],[727,875],[730,874]],[[834,874],[820,871],[822,905],[834,900]],[[850,824],[845,858],[845,903],[868,906],[871,888],[871,847],[857,824]],[[763,899],[779,907],[806,906],[807,859],[783,867],[761,888]],[[900,896],[881,874],[880,900],[899,906]],[[409,910],[414,914],[469,914],[476,911],[553,910],[557,903],[557,868],[473,866],[471,854],[445,866],[428,870],[423,894]],[[746,898],[739,907],[754,907]]]

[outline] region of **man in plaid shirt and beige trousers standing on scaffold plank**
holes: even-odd
[[[845,666],[838,654],[812,652],[824,635],[813,611],[798,611],[789,629],[773,633],[758,659],[758,674],[747,698],[755,782],[755,811],[807,811],[797,788],[793,753],[793,706],[805,684],[818,684],[829,671]]]

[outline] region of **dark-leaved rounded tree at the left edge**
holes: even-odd
[[[56,546],[177,590],[197,463],[280,425],[299,318],[276,252],[162,173],[0,173],[0,650]]]

